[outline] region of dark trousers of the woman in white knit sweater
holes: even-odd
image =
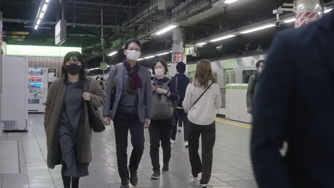
[[[202,162],[199,158],[199,135],[202,137]],[[202,172],[200,182],[208,183],[212,170],[213,146],[216,140],[216,122],[197,125],[189,121],[189,161],[192,172]]]

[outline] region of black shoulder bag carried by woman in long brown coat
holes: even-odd
[[[90,83],[91,83],[91,78],[88,78],[88,83],[87,83],[87,86],[85,87],[85,90],[86,90],[85,92],[88,91]],[[100,110],[92,106],[89,103],[89,101],[87,101],[87,107],[88,107],[88,112],[87,112],[88,121],[89,121],[89,124],[92,130],[94,132],[103,132],[106,129],[106,127],[103,123],[103,118],[100,113]]]

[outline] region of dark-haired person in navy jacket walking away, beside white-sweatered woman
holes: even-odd
[[[186,95],[187,86],[190,83],[190,79],[184,74],[186,71],[186,64],[183,62],[179,62],[176,64],[176,72],[177,74],[172,78],[175,80],[177,91],[180,95],[180,100],[177,104],[175,112],[177,113],[175,116],[175,127],[173,128],[171,142],[175,144],[176,132],[177,132],[177,123],[179,123],[179,127],[182,127],[183,122],[183,138],[184,138],[184,147],[188,147],[188,113],[185,113],[183,110],[182,102]]]

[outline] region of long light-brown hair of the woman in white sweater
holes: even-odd
[[[210,80],[217,83],[217,78],[212,73],[211,62],[209,60],[199,60],[195,72],[194,86],[207,88]]]

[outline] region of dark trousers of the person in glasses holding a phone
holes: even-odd
[[[162,147],[163,163],[169,163],[172,152],[170,137],[172,134],[173,126],[166,125],[162,121],[152,120],[151,125],[148,127],[148,131],[150,133],[150,156],[153,170],[160,170],[160,163],[159,163],[160,141]]]

